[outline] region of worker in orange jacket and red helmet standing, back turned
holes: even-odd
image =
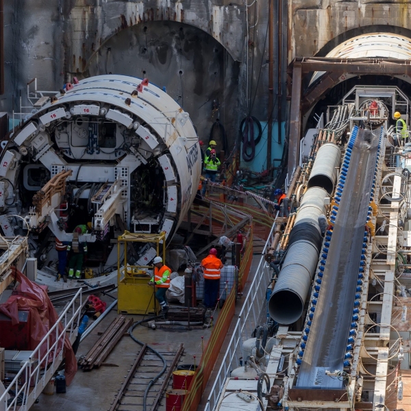
[[[223,268],[216,249],[210,249],[209,255],[201,261],[201,266],[204,274],[204,306],[214,308],[219,295],[220,271]]]

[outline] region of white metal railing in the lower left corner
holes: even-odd
[[[79,303],[76,303],[78,298]],[[27,411],[34,404],[63,360],[66,336],[69,337],[71,343],[75,340],[81,311],[82,288],[67,304],[58,321],[34,349],[32,355],[5,389],[5,393],[1,395],[0,408],[2,410]]]

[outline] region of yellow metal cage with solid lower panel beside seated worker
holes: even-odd
[[[160,234],[137,234],[124,232],[117,238],[117,284],[118,303],[117,310],[119,314],[158,314],[160,311],[157,300],[155,299],[155,287],[150,286],[148,282],[151,279],[151,273],[154,266],[136,266],[127,264],[127,243],[128,242],[145,242],[155,244],[157,256],[160,254],[162,247],[162,259],[165,264],[166,258],[166,233]],[[160,244],[161,243],[161,244]],[[124,247],[124,266],[121,264],[121,245]]]

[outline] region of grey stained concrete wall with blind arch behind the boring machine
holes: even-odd
[[[247,9],[242,0],[15,0],[5,2],[4,18],[5,95],[0,98],[0,111],[12,111],[13,97],[14,110],[18,111],[20,95],[23,105],[28,105],[26,84],[34,77],[38,78],[40,90],[58,91],[74,75],[82,79],[116,71],[147,75],[154,84],[166,86],[171,97],[183,103],[203,140],[208,139],[210,126],[219,116],[227,131],[229,149],[234,147],[240,121],[247,114],[263,122],[269,116],[268,3],[259,2],[258,7],[254,3]],[[286,32],[285,1],[282,20]],[[277,22],[276,8],[274,21]],[[254,24],[256,27],[252,27]],[[179,27],[183,27],[184,34],[181,53]],[[155,36],[154,29],[158,31]],[[277,56],[276,34],[275,27],[274,56]],[[191,44],[193,38],[197,38],[195,47]],[[145,47],[146,40],[149,47]],[[187,47],[191,50],[187,51]],[[106,71],[104,58],[108,48],[111,57],[109,53]],[[149,49],[145,55],[144,48]],[[214,49],[218,49],[215,54]],[[286,55],[286,38],[283,55]],[[181,79],[176,75],[180,64],[184,93]],[[132,66],[135,66],[133,73]],[[276,60],[274,69],[276,93]],[[284,59],[283,122],[285,69]],[[215,97],[220,112],[213,116]],[[275,107],[274,119],[276,110]],[[264,142],[260,143],[259,151],[265,151],[263,145]]]

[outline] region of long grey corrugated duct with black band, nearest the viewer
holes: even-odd
[[[269,313],[279,324],[295,323],[303,312],[321,248],[318,218],[325,214],[328,193],[319,187],[307,190],[291,230],[282,270],[269,300]]]

